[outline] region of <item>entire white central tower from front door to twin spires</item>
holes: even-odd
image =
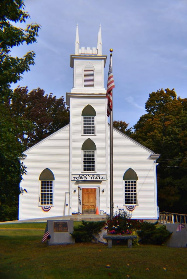
[[[79,214],[95,214],[108,208],[106,58],[102,55],[101,26],[97,47],[80,48],[77,25],[75,54],[70,60],[73,88],[66,93],[70,107],[70,214],[76,212],[77,200]]]

